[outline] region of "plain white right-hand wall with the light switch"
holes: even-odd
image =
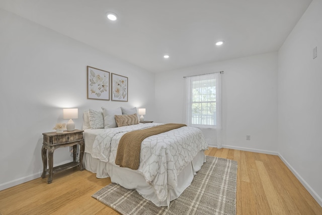
[[[278,151],[322,206],[321,11],[313,0],[278,52]]]

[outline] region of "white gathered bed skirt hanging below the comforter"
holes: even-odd
[[[135,189],[144,198],[152,201],[156,206],[168,206],[170,201],[178,198],[181,193],[190,186],[194,175],[206,162],[204,151],[200,151],[193,161],[178,175],[178,186],[168,190],[168,198],[159,201],[154,193],[154,189],[149,185],[143,175],[137,170],[121,168],[112,162],[102,162],[93,158],[91,154],[84,153],[83,165],[85,169],[96,173],[97,178],[111,177],[113,183],[117,183],[127,189]]]

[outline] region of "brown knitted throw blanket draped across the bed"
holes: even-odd
[[[137,170],[140,164],[141,143],[146,137],[163,133],[172,129],[187,126],[185,124],[168,123],[142,130],[125,133],[119,142],[115,164]]]

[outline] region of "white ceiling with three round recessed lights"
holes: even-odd
[[[0,0],[0,8],[158,73],[277,51],[311,1]]]

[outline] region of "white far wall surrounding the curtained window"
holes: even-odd
[[[184,123],[183,77],[221,70],[224,147],[277,154],[276,52],[156,74],[154,121]]]

